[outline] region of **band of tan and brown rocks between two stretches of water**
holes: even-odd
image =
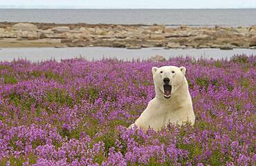
[[[165,25],[107,25],[0,23],[0,48],[93,47],[140,49],[256,48],[252,27],[167,27]]]

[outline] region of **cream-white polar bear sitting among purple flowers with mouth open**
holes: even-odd
[[[129,128],[136,125],[144,130],[151,127],[158,131],[170,123],[182,125],[188,121],[194,125],[195,116],[185,72],[183,66],[153,67],[156,96]]]

